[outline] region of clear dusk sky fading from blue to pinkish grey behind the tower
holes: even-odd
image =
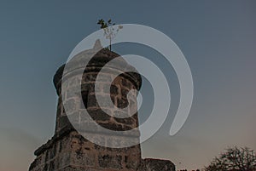
[[[96,21],[101,18],[164,32],[181,48],[192,71],[195,99],[189,118],[178,134],[169,136],[179,100],[172,66],[147,47],[113,47],[119,54],[147,56],[172,85],[169,117],[143,143],[143,157],[170,159],[177,168],[202,168],[227,146],[256,150],[255,9],[255,1],[236,0],[2,0],[0,170],[27,170],[33,151],[53,135],[53,75],[74,46],[98,29]],[[146,82],[143,88],[143,92],[150,90]],[[146,106],[141,121],[149,112]]]

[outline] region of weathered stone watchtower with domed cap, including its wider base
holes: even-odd
[[[113,104],[119,108],[127,108],[127,114],[130,110],[137,111],[137,94],[131,94],[131,100],[128,102],[127,94],[132,89],[139,90],[142,85],[142,78],[136,72],[125,72],[122,70],[132,67],[119,58],[118,65],[108,66],[107,70],[101,71],[110,60],[119,57],[119,54],[113,53],[108,48],[100,49],[100,43],[96,42],[94,48],[85,50],[73,57],[68,63],[71,64],[68,70],[63,71],[65,65],[61,66],[55,73],[54,84],[56,92],[59,95],[57,105],[57,116],[55,124],[55,134],[51,140],[42,145],[35,151],[37,156],[32,162],[30,171],[167,171],[175,170],[170,161],[158,159],[142,159],[140,145],[132,145],[124,148],[110,148],[104,145],[96,145],[90,140],[84,139],[83,134],[101,140],[102,143],[125,143],[129,140],[139,142],[139,131],[137,112],[132,116],[125,118],[118,116],[117,111],[108,103],[99,106],[96,100],[96,93],[100,94],[102,100],[110,97]],[[83,61],[91,54],[93,58],[84,69]],[[79,79],[76,74],[78,71],[83,73]],[[95,87],[96,77],[101,71],[103,77],[99,78],[100,87]],[[113,77],[114,74],[119,75]],[[61,94],[61,84],[66,79],[69,82],[65,94]],[[113,79],[114,78],[114,79]],[[81,84],[80,84],[81,83]],[[80,86],[80,88],[78,88]],[[110,87],[110,88],[109,88]],[[78,91],[79,89],[79,91]],[[76,98],[75,94],[81,94],[81,100]],[[65,96],[62,98],[62,96]],[[63,99],[67,100],[69,106],[64,108]],[[107,101],[107,100],[106,100]],[[104,110],[103,110],[104,109]],[[126,109],[126,108],[125,108]],[[66,111],[65,111],[66,110]],[[110,136],[107,140],[102,136],[106,134],[100,132],[88,118],[84,117],[86,110],[90,117],[103,128],[108,128],[115,132],[134,130],[132,134],[120,134]],[[105,111],[108,111],[108,115]],[[67,116],[68,114],[68,116]],[[121,113],[125,115],[126,113]],[[73,123],[73,124],[71,124]],[[78,130],[79,129],[79,130]],[[118,139],[116,139],[119,136]]]

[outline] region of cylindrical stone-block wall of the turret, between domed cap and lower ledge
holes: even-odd
[[[94,68],[95,69],[95,68]],[[110,96],[114,105],[119,108],[125,108],[128,106],[127,94],[131,89],[135,89],[134,85],[125,77],[117,77],[114,79],[113,83],[111,83],[111,74],[102,74],[104,75],[104,79],[100,80],[101,88],[97,88],[95,92],[95,81],[96,81],[96,74],[97,72],[90,71],[91,68],[87,69],[87,72],[84,73],[82,85],[81,85],[81,92],[79,90],[79,77],[73,76],[69,77],[68,79],[71,80],[71,85],[68,85],[67,92],[64,94],[65,99],[67,100],[69,107],[69,114],[68,119],[72,120],[73,123],[78,123],[82,125],[83,123],[88,123],[89,121],[84,117],[84,106],[86,110],[90,114],[90,117],[96,121],[102,127],[111,129],[111,130],[130,130],[132,128],[138,127],[138,117],[137,112],[132,115],[131,117],[128,116],[130,108],[133,108],[133,111],[137,111],[137,94],[133,94],[130,107],[125,111],[127,113],[126,118],[119,118],[119,117],[111,117],[108,114],[112,115],[119,115],[120,111],[111,108],[108,104],[108,96]],[[108,89],[108,84],[111,84],[110,90]],[[60,90],[59,90],[60,91]],[[110,93],[109,93],[110,92]],[[103,106],[99,106],[96,101],[96,93],[100,94],[100,98],[106,102]],[[81,104],[80,100],[76,98],[74,94],[82,94],[83,104]],[[105,109],[108,113],[102,111]],[[123,112],[123,114],[125,115]],[[55,132],[58,133],[62,128],[65,128],[67,124],[69,124],[67,119],[67,114],[64,110],[62,104],[62,97],[60,94],[58,107],[57,107],[57,119],[56,119],[56,128]]]

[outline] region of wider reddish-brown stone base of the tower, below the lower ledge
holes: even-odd
[[[110,170],[136,170],[136,161],[139,145],[129,149],[113,149],[95,145],[85,140],[76,131],[62,134],[60,138],[49,140],[48,146],[38,149],[40,153],[29,170],[55,171],[110,171]],[[130,162],[129,162],[130,161]]]

